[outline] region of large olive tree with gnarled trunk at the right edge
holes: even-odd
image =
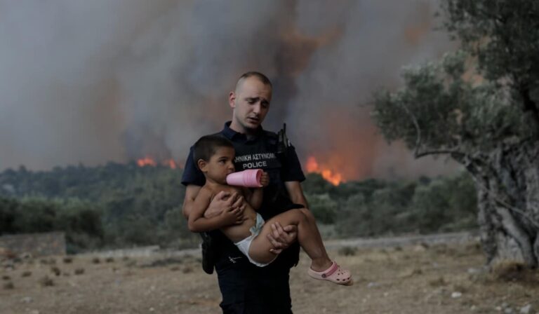
[[[416,158],[448,155],[470,172],[489,264],[536,267],[539,1],[443,0],[441,12],[460,49],[405,69],[404,88],[378,93],[373,115]]]

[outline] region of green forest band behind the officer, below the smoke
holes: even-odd
[[[181,175],[181,169],[136,163],[5,170],[0,172],[0,234],[65,231],[70,253],[138,245],[194,247],[199,237],[189,232],[181,214]],[[310,173],[302,186],[330,238],[477,228],[477,193],[465,172],[338,186]]]

